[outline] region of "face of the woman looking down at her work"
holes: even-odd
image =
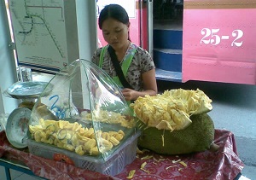
[[[127,46],[129,26],[118,20],[108,18],[102,23],[103,38],[113,49],[121,49]]]

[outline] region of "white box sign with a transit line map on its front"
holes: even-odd
[[[75,1],[9,0],[18,65],[57,73],[79,58]]]

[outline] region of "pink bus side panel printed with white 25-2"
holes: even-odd
[[[188,2],[183,11],[183,82],[256,84],[256,7],[229,9],[215,1],[215,7],[198,8]]]

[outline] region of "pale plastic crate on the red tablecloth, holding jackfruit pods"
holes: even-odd
[[[57,148],[46,143],[35,142],[30,139],[27,140],[27,144],[31,154],[49,160],[65,160],[67,163],[83,169],[115,176],[124,170],[125,165],[131,164],[131,162],[136,159],[137,137],[140,135],[141,132],[137,131],[133,136],[127,138],[125,142],[120,144],[119,148],[108,157],[108,160],[104,160],[102,156],[81,156],[66,149]]]

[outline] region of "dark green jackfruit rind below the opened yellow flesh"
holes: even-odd
[[[165,131],[154,127],[140,129],[138,147],[147,148],[157,154],[190,154],[206,151],[214,140],[214,125],[207,113],[192,115],[192,123],[183,130]],[[138,121],[137,124],[142,123]],[[164,146],[162,141],[164,135]]]

